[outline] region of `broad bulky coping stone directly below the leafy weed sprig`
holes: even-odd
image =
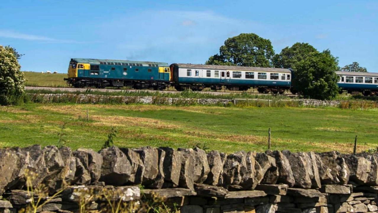
[[[100,154],[103,163],[99,180],[115,186],[127,183],[132,171],[126,155],[116,146],[101,149]]]

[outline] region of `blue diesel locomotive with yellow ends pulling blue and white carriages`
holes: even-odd
[[[338,86],[348,93],[378,95],[378,73],[340,72]],[[293,70],[285,68],[241,67],[203,64],[167,64],[165,62],[72,58],[68,78],[73,87],[132,87],[134,89],[178,91],[229,89],[259,93],[296,93]]]

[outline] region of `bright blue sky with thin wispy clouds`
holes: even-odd
[[[240,33],[274,50],[308,42],[339,65],[378,72],[378,1],[2,0],[0,45],[22,70],[67,72],[70,58],[201,63]]]

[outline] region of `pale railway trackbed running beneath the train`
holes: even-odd
[[[38,87],[38,86],[26,86],[25,90],[50,90],[50,91],[66,91],[66,92],[85,92],[88,89],[91,91],[98,91],[98,92],[160,92],[160,93],[180,93],[179,91],[170,91],[170,90],[135,90],[135,89],[97,89],[97,88],[74,88],[74,87]],[[212,92],[212,91],[202,91],[199,93],[205,93],[205,94],[211,94],[211,95],[227,95],[230,93],[242,93],[241,91],[223,91],[223,92]],[[256,95],[267,95],[267,94],[261,94],[258,92],[248,92],[250,94],[256,94]],[[280,94],[277,94],[280,95]],[[282,94],[283,96],[288,97],[297,97],[298,95],[293,94]]]

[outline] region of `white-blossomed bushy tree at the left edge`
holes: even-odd
[[[14,48],[0,45],[0,104],[16,104],[24,94],[25,77]]]

